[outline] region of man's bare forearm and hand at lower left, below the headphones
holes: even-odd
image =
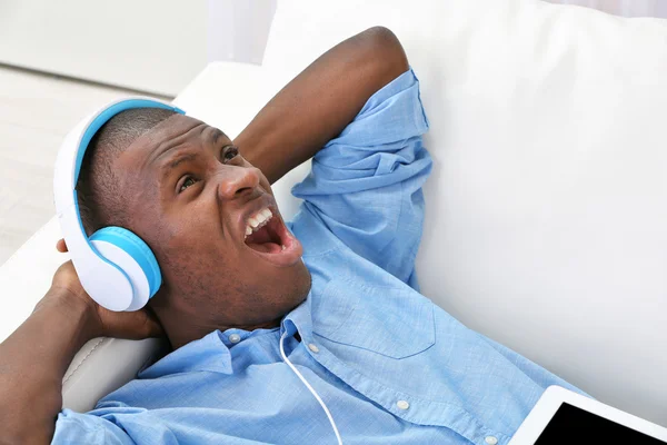
[[[146,338],[159,325],[146,312],[111,313],[86,295],[71,261],[47,295],[0,344],[0,444],[48,444],[62,406],[62,377],[74,354],[99,336]]]

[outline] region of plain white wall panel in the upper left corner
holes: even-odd
[[[207,0],[2,0],[0,62],[176,96],[207,65]]]

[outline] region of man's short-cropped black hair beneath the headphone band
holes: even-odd
[[[135,108],[113,116],[96,132],[77,181],[79,212],[88,236],[107,226],[128,228],[129,215],[113,162],[137,138],[175,113],[163,108]]]

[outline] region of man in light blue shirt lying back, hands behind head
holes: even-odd
[[[427,129],[384,28],[321,56],[233,141],[167,111],[115,117],[78,185],[87,230],[139,235],[162,287],[148,310],[110,313],[62,266],[0,346],[0,441],[507,443],[547,386],[576,388],[419,294]],[[269,184],[310,157],[285,224]],[[60,412],[83,342],[161,328],[171,354],[91,413]]]

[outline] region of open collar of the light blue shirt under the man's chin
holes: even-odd
[[[309,340],[312,337],[312,316],[310,313],[311,293],[308,293],[306,300],[290,310],[280,323],[280,335],[287,332],[287,336],[293,336],[299,332],[302,339]],[[229,342],[231,334],[238,334],[240,342],[245,342],[256,335],[272,329],[227,329],[225,333],[213,330],[205,337],[188,343],[185,346],[168,354],[152,366],[149,366],[141,373],[139,378],[158,378],[171,374],[189,372],[211,372],[219,374],[232,374],[231,353],[229,350],[233,345]]]

